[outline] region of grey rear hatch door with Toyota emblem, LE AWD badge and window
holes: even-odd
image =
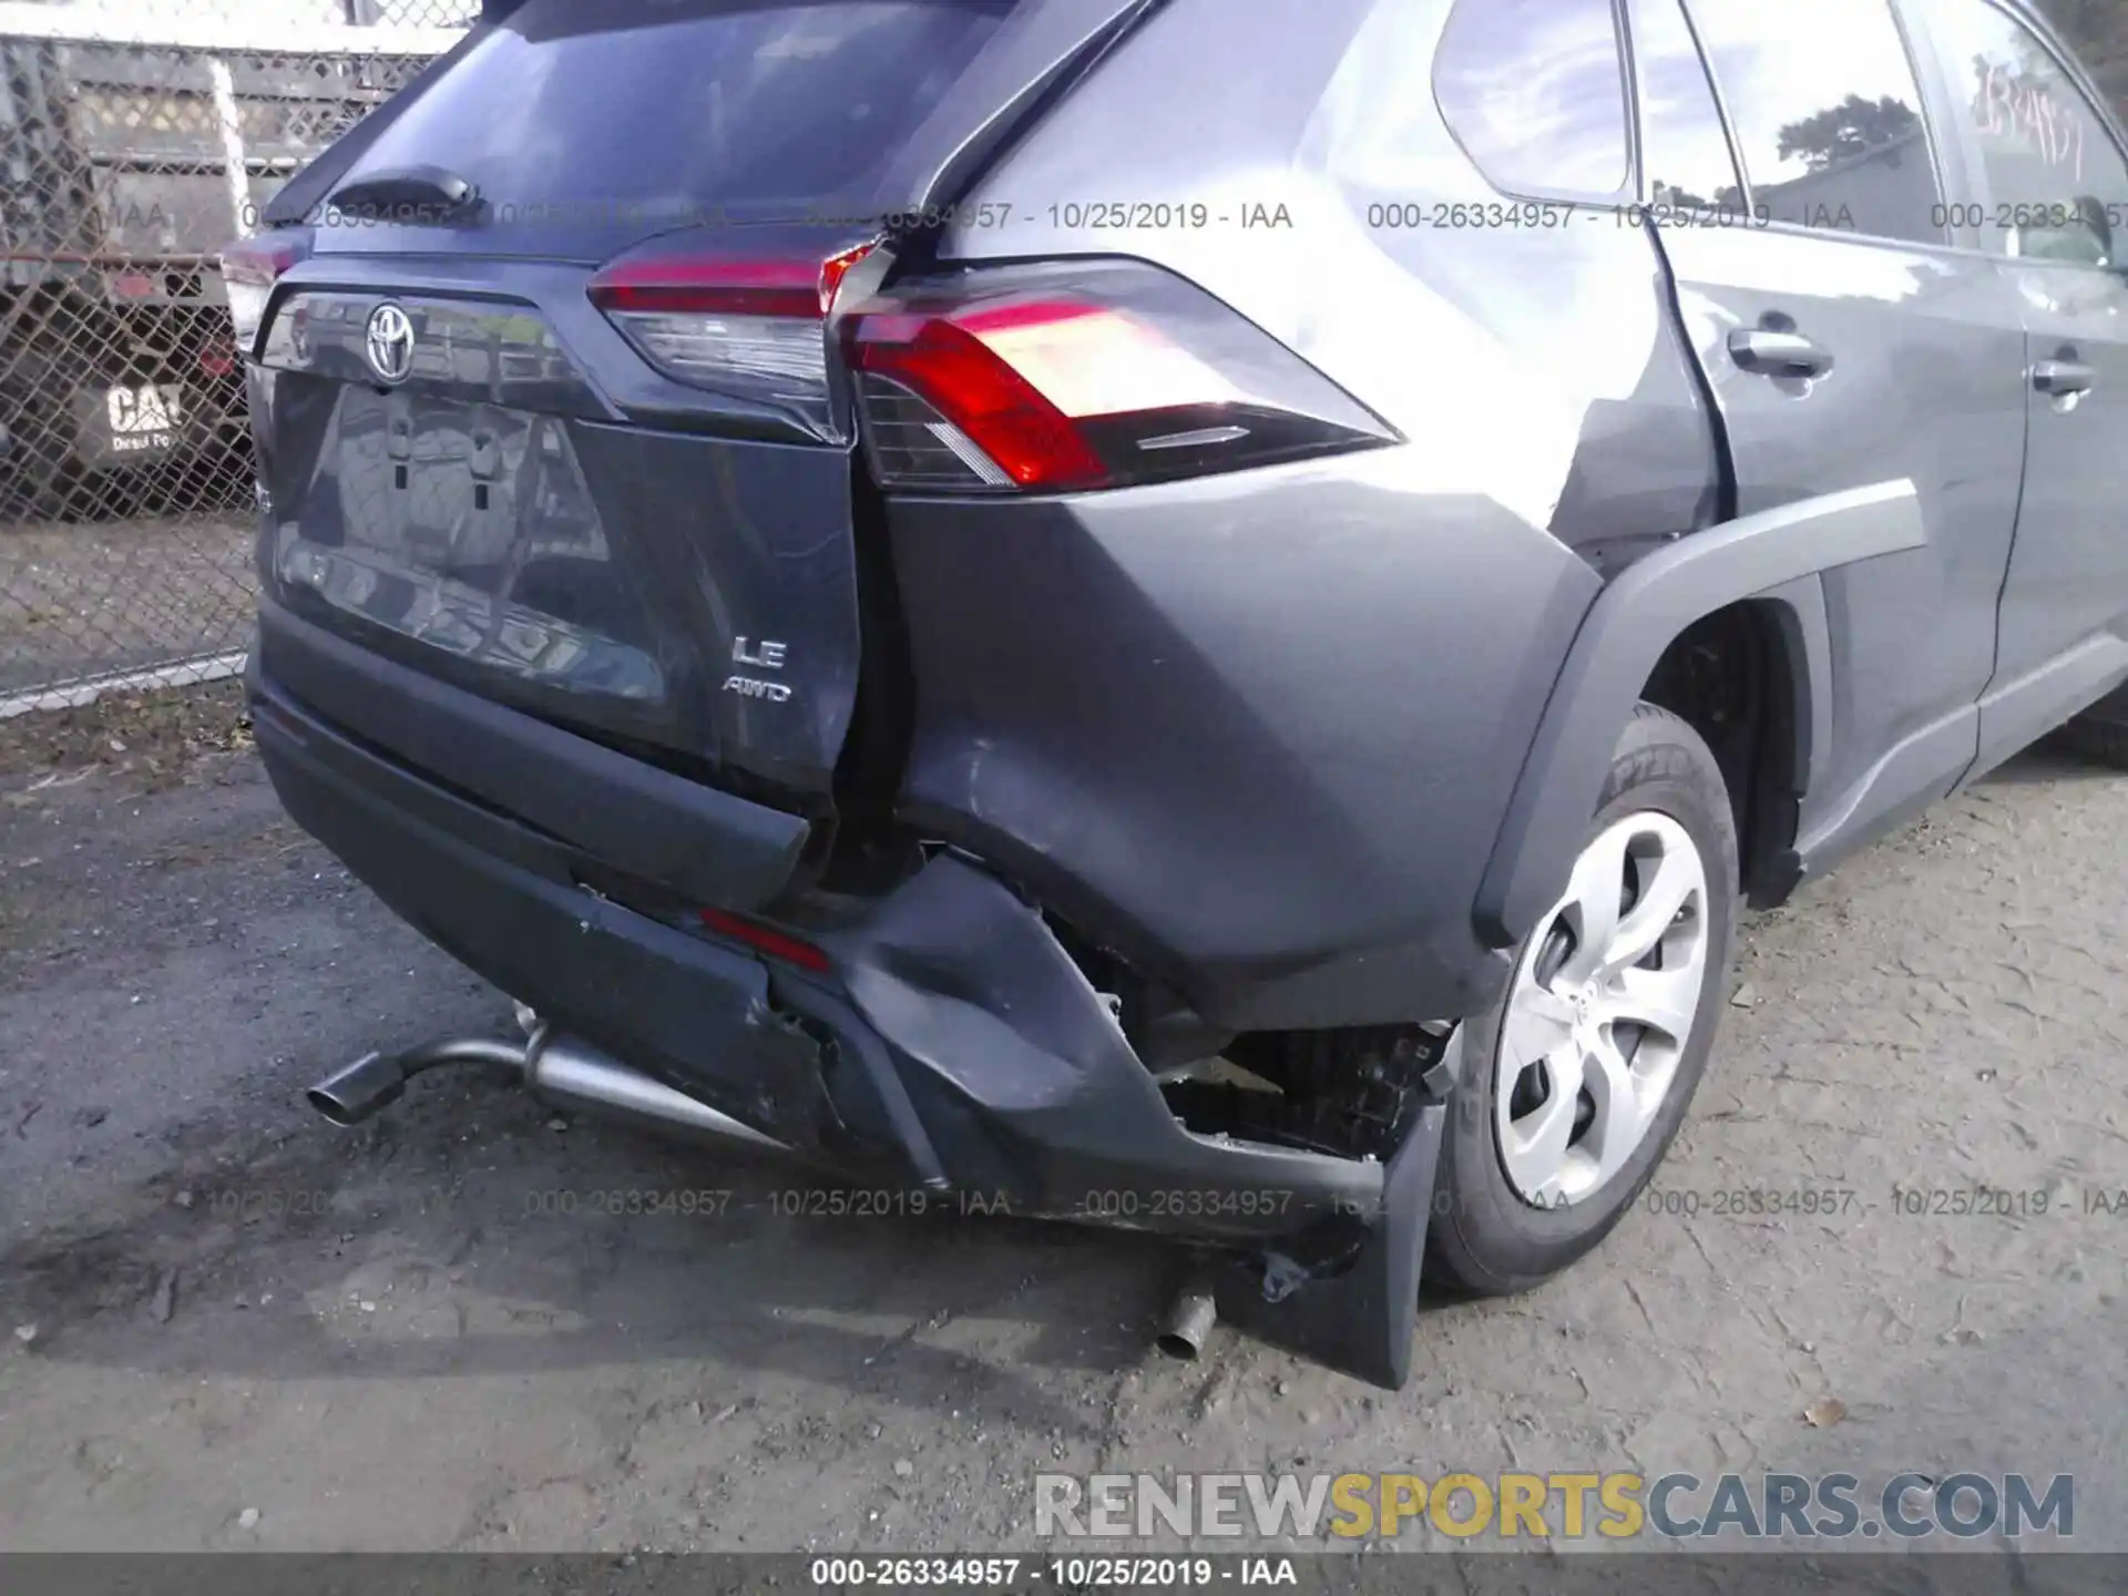
[[[804,300],[885,194],[1128,9],[528,0],[309,179],[477,200],[313,209],[255,351],[272,596],[824,807],[862,615],[847,400]]]

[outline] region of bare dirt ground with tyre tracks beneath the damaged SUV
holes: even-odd
[[[1428,1309],[1392,1396],[1160,1360],[1132,1238],[792,1217],[772,1162],[472,1077],[334,1132],[319,1073],[506,1007],[240,732],[106,730],[0,753],[0,1547],[1026,1549],[1036,1470],[1313,1466],[2075,1473],[2128,1549],[2128,777],[2030,753],[1751,921],[1658,1175],[1698,1215]],[[1800,1187],[1856,1207],[1713,1211]]]

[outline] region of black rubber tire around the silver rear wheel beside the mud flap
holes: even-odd
[[[1707,868],[1709,970],[1677,1075],[1645,1141],[1596,1192],[1573,1207],[1526,1202],[1500,1162],[1494,1121],[1496,1060],[1509,983],[1494,1007],[1470,1019],[1462,1079],[1449,1109],[1426,1236],[1426,1283],[1504,1296],[1551,1279],[1592,1251],[1645,1190],[1677,1138],[1707,1070],[1728,994],[1736,943],[1736,824],[1722,768],[1685,721],[1639,704],[1619,736],[1590,838],[1626,815],[1660,811],[1685,828]],[[1532,936],[1543,934],[1543,928]],[[1517,962],[1524,949],[1517,949]]]

